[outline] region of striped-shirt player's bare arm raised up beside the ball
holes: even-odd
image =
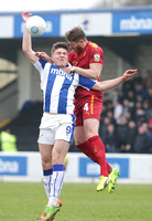
[[[22,18],[25,23],[30,17],[31,17],[31,13],[29,12],[22,13]],[[35,52],[32,50],[31,35],[28,32],[25,27],[24,27],[24,32],[23,32],[22,51],[24,52],[24,54],[26,55],[26,57],[32,64],[34,64],[39,60],[39,56],[36,56]]]

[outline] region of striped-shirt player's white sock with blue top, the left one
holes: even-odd
[[[43,170],[43,183],[47,198],[51,194],[52,169]]]

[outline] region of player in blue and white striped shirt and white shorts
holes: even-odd
[[[30,17],[29,12],[22,13],[24,22]],[[53,45],[51,51],[53,64],[51,64],[35,55],[32,50],[31,35],[25,28],[22,50],[37,69],[41,77],[44,114],[41,119],[37,143],[48,202],[40,220],[51,221],[61,207],[58,197],[65,175],[64,158],[69,149],[75,128],[75,90],[79,85],[87,90],[109,90],[134,76],[137,70],[128,70],[122,76],[105,82],[95,82],[75,72],[67,74],[68,45],[65,42],[57,42]]]

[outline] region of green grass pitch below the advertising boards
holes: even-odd
[[[55,221],[151,221],[152,185],[119,185],[113,194],[95,183],[64,183]],[[36,221],[46,204],[43,183],[0,182],[0,221]]]

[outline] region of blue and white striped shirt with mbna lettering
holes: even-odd
[[[74,114],[74,94],[77,86],[91,90],[95,81],[78,75],[67,74],[59,67],[39,60],[34,66],[41,75],[44,112],[55,114]]]

